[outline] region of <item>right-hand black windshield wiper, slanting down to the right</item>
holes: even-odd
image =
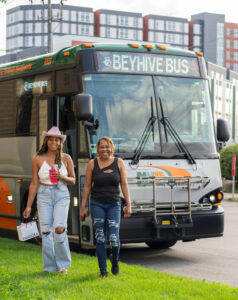
[[[189,152],[188,148],[184,145],[183,141],[181,140],[181,138],[179,137],[178,133],[176,132],[176,130],[173,128],[173,126],[171,125],[171,123],[169,122],[167,117],[163,117],[160,122],[166,126],[169,134],[171,135],[171,137],[173,138],[175,145],[177,146],[179,152],[184,152],[185,156],[187,157],[188,161],[190,162],[190,164],[196,164],[196,161],[194,160],[194,158],[192,157],[191,153]]]

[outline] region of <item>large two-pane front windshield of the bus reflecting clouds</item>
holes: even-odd
[[[99,121],[97,129],[89,128],[91,148],[108,136],[115,152],[131,156],[153,118],[141,157],[178,155],[160,122],[166,117],[191,153],[216,152],[206,80],[125,74],[87,74],[83,79],[93,97],[94,121]]]

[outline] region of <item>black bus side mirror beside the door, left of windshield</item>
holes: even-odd
[[[75,117],[80,121],[89,121],[93,117],[93,100],[88,94],[75,96]]]

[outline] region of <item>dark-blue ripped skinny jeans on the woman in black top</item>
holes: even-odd
[[[120,252],[119,229],[121,203],[101,203],[91,200],[93,228],[96,240],[98,265],[101,272],[107,271],[106,234],[108,229],[112,259],[118,260]]]

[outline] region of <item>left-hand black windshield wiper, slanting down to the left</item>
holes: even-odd
[[[141,154],[142,154],[142,152],[145,148],[145,145],[148,141],[148,138],[149,138],[151,132],[154,129],[155,121],[156,121],[156,117],[151,116],[149,118],[149,120],[146,124],[145,130],[142,133],[142,136],[139,140],[139,143],[137,144],[136,149],[134,150],[134,155],[133,155],[133,158],[132,158],[132,161],[131,161],[131,165],[137,165],[138,164],[138,162],[140,160],[140,157],[141,157]]]

